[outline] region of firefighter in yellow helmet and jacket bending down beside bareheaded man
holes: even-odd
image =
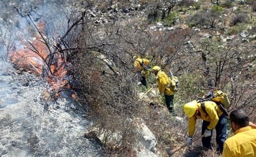
[[[227,139],[227,119],[219,106],[213,101],[188,102],[183,107],[184,112],[188,115],[188,138],[186,144],[190,145],[196,128],[196,120],[203,120],[201,135],[204,148],[211,149],[211,137],[213,129],[216,130],[217,151],[222,153],[223,145]]]

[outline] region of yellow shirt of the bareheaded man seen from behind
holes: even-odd
[[[235,135],[224,143],[222,157],[256,156],[256,129],[242,127],[235,130]]]

